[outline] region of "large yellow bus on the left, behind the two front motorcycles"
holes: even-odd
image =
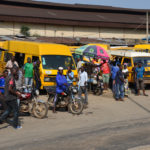
[[[6,41],[2,51],[0,63],[1,70],[4,70],[6,62],[10,56],[14,55],[20,67],[23,67],[30,57],[32,62],[41,61],[40,75],[42,86],[41,89],[48,86],[55,86],[55,78],[59,66],[64,68],[66,75],[67,68],[72,67],[75,79],[77,78],[77,70],[72,54],[68,46],[60,44],[36,43],[26,41]],[[76,84],[76,81],[74,81]]]

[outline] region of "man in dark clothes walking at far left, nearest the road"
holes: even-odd
[[[11,112],[13,112],[12,125],[15,129],[22,128],[19,126],[19,107],[17,103],[17,96],[20,97],[21,93],[16,90],[15,75],[17,74],[17,68],[11,69],[11,75],[7,76],[5,81],[5,93],[4,98],[7,104],[6,111],[0,116],[0,122],[2,123]]]

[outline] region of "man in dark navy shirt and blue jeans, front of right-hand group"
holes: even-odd
[[[119,64],[119,71],[116,75],[116,100],[124,100],[124,75],[122,72],[122,65]]]

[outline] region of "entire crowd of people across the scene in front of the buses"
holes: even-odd
[[[31,58],[27,58],[27,63],[24,64],[22,68],[19,67],[18,63],[15,61],[15,57],[12,56],[6,64],[3,74],[0,76],[0,101],[4,108],[3,114],[0,116],[0,123],[3,123],[9,114],[13,112],[13,127],[18,129],[21,128],[18,116],[19,116],[19,100],[21,93],[19,92],[19,87],[23,84],[29,86],[24,92],[30,93],[31,87],[34,86],[35,89],[40,89],[40,60],[32,62]],[[88,65],[90,65],[90,71],[88,70]],[[84,94],[84,106],[88,107],[88,85],[91,82],[91,74],[96,72],[97,76],[101,76],[104,85],[104,92],[112,89],[114,98],[117,101],[123,101],[124,96],[129,94],[129,84],[128,84],[128,64],[123,64],[123,66],[117,61],[101,60],[93,58],[91,62],[86,66],[83,61],[78,59],[77,71],[78,71],[78,96],[82,97]],[[134,78],[135,94],[140,95],[140,88],[143,90],[143,95],[148,96],[145,93],[143,75],[145,72],[142,63],[134,64],[132,69],[132,76]],[[58,68],[58,73],[56,76],[56,95],[54,98],[53,112],[56,112],[56,103],[58,100],[58,95],[66,90],[68,86],[73,85],[74,73],[71,66],[68,67],[66,76],[63,72],[63,67]],[[97,78],[98,79],[98,78]],[[34,82],[35,81],[35,84]],[[111,86],[110,86],[111,85]]]

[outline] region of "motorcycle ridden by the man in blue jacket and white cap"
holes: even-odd
[[[49,88],[46,89],[49,95],[48,97],[48,104],[49,107],[52,108],[54,105],[54,98],[56,95],[56,88]],[[57,104],[56,108],[68,108],[72,114],[81,114],[84,108],[83,101],[76,97],[78,90],[76,87],[69,86],[66,92],[62,92],[57,96]]]

